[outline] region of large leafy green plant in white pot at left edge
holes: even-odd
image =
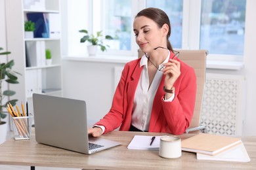
[[[3,50],[3,48],[0,47],[0,50]],[[11,52],[0,52],[0,55],[7,55],[11,54]],[[18,84],[18,77],[16,76],[16,71],[12,71],[12,66],[14,65],[13,59],[7,63],[0,63],[0,143],[3,143],[6,140],[7,136],[7,123],[4,122],[2,119],[4,119],[7,116],[7,104],[11,103],[12,106],[16,105],[17,99],[9,100],[8,98],[5,99],[5,97],[10,97],[14,95],[16,92],[12,90],[3,90],[4,83],[11,83],[11,84]],[[6,103],[4,102],[4,99]],[[3,129],[2,129],[3,128]]]

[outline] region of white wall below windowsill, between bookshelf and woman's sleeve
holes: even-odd
[[[62,64],[64,96],[85,100],[88,119],[100,120],[112,105],[114,67],[124,64],[67,60]]]

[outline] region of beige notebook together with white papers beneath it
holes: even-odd
[[[196,152],[198,160],[250,161],[238,137],[200,133],[181,142],[183,151]]]

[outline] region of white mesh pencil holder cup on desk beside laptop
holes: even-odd
[[[33,115],[12,117],[15,140],[30,139]]]

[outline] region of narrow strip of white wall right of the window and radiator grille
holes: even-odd
[[[245,135],[256,135],[256,1],[247,1],[246,10],[247,16],[245,20],[245,49],[244,49],[244,63],[245,63],[245,78],[246,86],[246,104],[245,104]]]

